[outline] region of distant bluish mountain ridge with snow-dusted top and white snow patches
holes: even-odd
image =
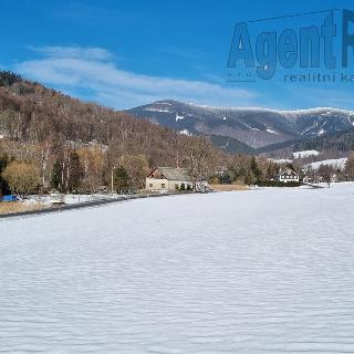
[[[299,111],[229,108],[166,100],[128,112],[181,134],[230,137],[254,148],[354,128],[354,112],[331,107]]]

